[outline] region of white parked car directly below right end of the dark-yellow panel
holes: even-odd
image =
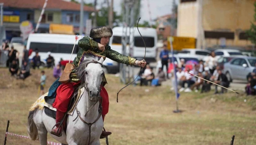
[[[211,51],[205,49],[191,49],[184,48],[181,50],[180,54],[189,54],[196,56],[198,60],[203,60],[206,56],[210,55]]]

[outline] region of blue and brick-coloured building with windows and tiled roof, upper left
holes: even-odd
[[[29,20],[35,28],[45,0],[2,0],[4,3],[4,26],[6,38],[20,36],[20,24]],[[93,7],[84,6],[84,30]],[[48,0],[37,33],[48,33],[50,23],[74,26],[74,33],[79,31],[80,4],[63,0]]]

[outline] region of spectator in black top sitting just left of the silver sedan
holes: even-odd
[[[227,88],[229,86],[229,81],[227,79],[227,76],[225,74],[223,74],[220,69],[218,70],[218,74],[219,74],[218,79],[214,83]],[[215,85],[215,93],[214,94],[218,94],[218,85]],[[221,87],[220,93],[221,94],[224,93],[224,88]]]

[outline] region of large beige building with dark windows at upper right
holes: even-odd
[[[255,0],[180,0],[177,36],[194,37],[197,48],[251,48],[245,30],[254,21]]]

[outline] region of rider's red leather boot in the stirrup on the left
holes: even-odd
[[[64,117],[65,112],[58,111],[56,112],[56,128],[51,130],[51,134],[61,137],[62,136],[62,130],[64,129],[63,126],[66,124],[66,118],[64,118],[62,124],[60,125],[61,119]],[[59,131],[58,131],[59,130]]]

